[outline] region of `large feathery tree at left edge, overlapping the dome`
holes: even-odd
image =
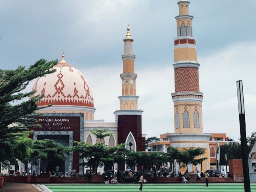
[[[29,157],[29,143],[24,135],[28,127],[36,127],[36,120],[30,114],[40,109],[36,103],[43,97],[38,95],[23,101],[34,92],[21,93],[31,80],[54,72],[51,68],[57,60],[47,62],[44,59],[25,69],[18,66],[16,70],[0,69],[0,163],[8,166],[14,159],[23,160]],[[20,146],[24,143],[24,156],[20,157]]]

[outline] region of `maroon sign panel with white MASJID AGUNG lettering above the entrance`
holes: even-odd
[[[48,131],[73,131],[76,128],[80,128],[80,117],[34,117],[38,124],[41,125],[39,128],[33,130],[48,130]]]

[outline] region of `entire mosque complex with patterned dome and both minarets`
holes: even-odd
[[[170,145],[179,150],[190,147],[205,148],[206,152],[202,157],[207,160],[202,165],[188,167],[188,171],[205,171],[210,168],[210,156],[215,158],[216,145],[210,144],[209,140],[214,141],[212,134],[203,132],[202,124],[202,101],[203,93],[199,89],[199,67],[196,53],[196,39],[192,34],[193,16],[189,15],[189,4],[187,0],[178,2],[179,15],[177,21],[177,37],[174,38],[174,84],[175,91],[172,93],[174,102],[174,133],[164,134],[161,143],[149,144],[151,148],[157,146]],[[99,139],[95,138],[90,130],[95,128],[107,128],[111,136],[104,138],[107,146],[116,146],[126,143],[129,150],[144,151],[145,137],[142,134],[142,110],[138,110],[138,98],[136,95],[136,78],[134,71],[135,55],[132,52],[132,36],[130,27],[124,38],[123,72],[120,74],[122,86],[120,100],[120,110],[114,112],[115,122],[104,122],[104,120],[94,120],[94,99],[92,89],[86,78],[74,66],[67,63],[64,53],[62,60],[53,67],[56,70],[53,74],[48,74],[38,78],[33,90],[34,95],[44,94],[44,98],[38,102],[38,106],[48,108],[38,110],[41,116],[36,116],[41,128],[34,128],[32,138],[34,140],[53,139],[62,143],[64,146],[73,146],[74,141],[95,144]],[[223,138],[226,137],[226,134]],[[223,140],[222,138],[222,140]],[[211,147],[211,152],[210,152]],[[213,148],[212,148],[213,147]],[[212,155],[211,155],[212,154]],[[66,156],[64,164],[59,165],[65,172],[76,169],[84,172],[78,166],[83,160],[79,159],[79,154]],[[40,162],[37,170],[45,171],[46,166],[54,169],[56,164],[51,164],[47,160]],[[178,165],[177,165],[178,166]],[[125,167],[118,167],[124,170]]]

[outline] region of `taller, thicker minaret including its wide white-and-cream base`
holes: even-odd
[[[207,160],[201,165],[188,166],[188,171],[205,171],[210,168],[209,139],[210,134],[203,134],[202,101],[203,94],[199,91],[198,69],[200,64],[196,58],[196,40],[192,36],[192,19],[189,15],[187,0],[178,2],[179,15],[177,20],[177,37],[174,38],[174,133],[169,135],[170,145],[183,148],[205,148]],[[178,166],[178,165],[176,165]],[[183,170],[184,171],[184,170]]]

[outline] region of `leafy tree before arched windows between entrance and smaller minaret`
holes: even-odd
[[[74,152],[80,153],[80,158],[85,159],[81,165],[92,167],[92,171],[97,174],[97,168],[101,163],[105,165],[114,163],[124,163],[124,156],[127,152],[125,144],[108,148],[103,143],[88,145],[84,142],[75,142],[77,145],[73,147]]]

